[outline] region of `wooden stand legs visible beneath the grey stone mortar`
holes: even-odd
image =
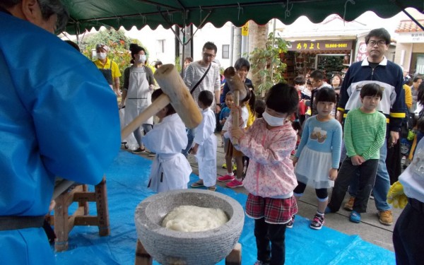
[[[135,265],[152,265],[153,258],[144,249],[140,240],[137,240],[136,246],[136,261]],[[184,265],[184,262],[176,261],[175,265]],[[227,257],[225,257],[225,265],[241,265],[242,264],[242,245],[237,242]]]

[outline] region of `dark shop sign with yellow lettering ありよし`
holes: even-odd
[[[352,49],[352,41],[320,40],[317,42],[299,41],[290,42],[289,51],[313,52],[313,51],[338,51],[341,49]]]

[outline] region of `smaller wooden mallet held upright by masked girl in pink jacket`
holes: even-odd
[[[243,83],[242,79],[235,72],[235,68],[230,66],[224,71],[225,83],[228,83],[228,87],[232,92],[232,98],[234,98],[234,105],[240,106],[240,100],[244,100],[247,96],[247,88],[245,83]],[[234,112],[234,116],[232,117],[232,126],[238,127],[240,113],[238,109]],[[237,139],[233,139],[232,144],[236,145],[238,143]]]

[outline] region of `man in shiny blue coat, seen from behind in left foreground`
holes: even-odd
[[[59,0],[0,1],[0,264],[54,264],[55,176],[98,184],[119,151],[116,96],[52,34],[67,18]]]

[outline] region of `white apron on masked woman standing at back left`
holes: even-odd
[[[149,90],[144,67],[131,67],[129,70],[129,87],[125,101],[125,124],[129,124],[143,110],[152,104],[152,94]],[[143,124],[152,124],[153,117],[150,117]]]

